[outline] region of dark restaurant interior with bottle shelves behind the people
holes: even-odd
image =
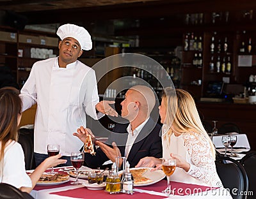
[[[74,23],[92,34],[83,63],[93,66],[121,52],[152,57],[175,87],[191,92],[202,121],[237,124],[256,149],[256,1],[1,0],[0,8],[0,63],[20,87],[35,61],[58,55],[58,27]],[[144,78],[161,94],[156,78],[136,68],[108,73],[99,93],[125,75]],[[33,122],[35,108],[22,124]],[[108,127],[111,120],[102,122]]]

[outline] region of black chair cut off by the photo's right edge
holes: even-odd
[[[246,170],[246,173],[248,175],[248,196],[247,198],[255,198],[256,196],[256,152],[250,152],[249,154],[246,154],[241,160],[241,165],[244,166],[244,170]],[[253,193],[251,193],[253,191]],[[249,195],[250,193],[250,195]]]

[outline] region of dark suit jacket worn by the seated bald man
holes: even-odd
[[[108,144],[116,142],[122,156],[124,156],[125,152],[128,125],[129,124],[116,124],[115,128],[113,129],[113,133],[111,133],[108,139]],[[127,157],[127,161],[129,161],[131,168],[136,166],[140,159],[145,158],[146,156],[162,158],[163,149],[161,137],[159,136],[160,129],[161,126],[159,124],[156,124],[156,122],[154,122],[151,118],[148,119],[147,123],[145,126],[143,126],[139,135],[134,141],[131,151],[129,152],[129,156]],[[96,149],[95,156],[85,153],[84,165],[89,166],[90,168],[99,168],[105,161],[108,160],[109,158],[99,147]]]

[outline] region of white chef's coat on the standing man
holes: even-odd
[[[47,144],[60,144],[70,156],[83,142],[72,133],[86,126],[86,114],[97,119],[99,102],[95,71],[80,61],[60,68],[58,57],[36,62],[20,91],[22,111],[37,103],[34,151],[47,154]]]

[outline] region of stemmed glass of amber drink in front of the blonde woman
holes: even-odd
[[[176,159],[172,159],[172,158],[163,159],[162,167],[163,167],[163,172],[165,173],[165,175],[167,177],[167,188],[164,189],[162,192],[165,193],[166,195],[170,195],[172,193],[172,189],[170,187],[170,176],[175,171]]]

